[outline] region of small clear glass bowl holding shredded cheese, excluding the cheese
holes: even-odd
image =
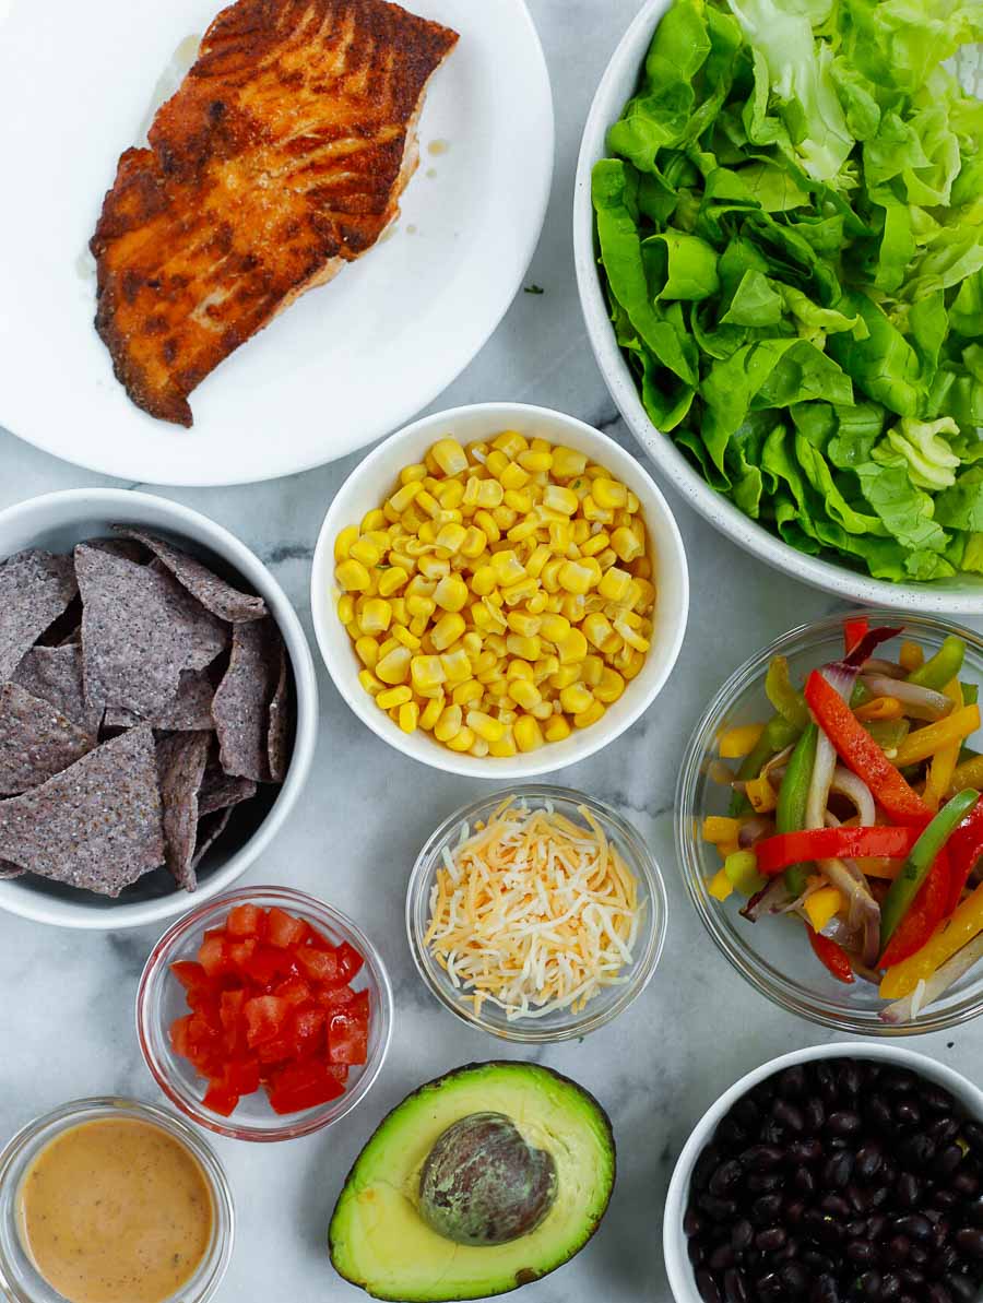
[[[639,904],[643,916],[635,943],[635,960],[622,971],[622,984],[605,986],[587,1002],[580,1012],[568,1009],[557,1010],[544,1018],[524,1018],[510,1022],[505,1010],[486,1001],[481,1012],[476,1014],[473,1005],[462,998],[465,993],[456,989],[447,973],[434,960],[424,945],[430,919],[430,889],[437,869],[443,863],[443,851],[456,846],[465,829],[473,827],[478,820],[488,820],[507,797],[527,807],[544,807],[546,803],[575,822],[583,822],[580,808],[585,808],[604,827],[608,838],[617,846],[626,864],[638,880]],[[648,847],[638,831],[627,823],[617,810],[570,787],[550,787],[542,783],[527,783],[506,791],[481,796],[456,810],[430,835],[426,846],[417,856],[407,891],[407,934],[413,963],[424,982],[439,999],[445,1009],[473,1027],[480,1027],[492,1036],[520,1045],[542,1045],[548,1041],[568,1041],[578,1036],[604,1027],[617,1018],[640,995],[656,971],[666,936],[668,902],[662,874]]]

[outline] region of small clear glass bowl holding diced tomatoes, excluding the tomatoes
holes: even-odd
[[[188,1012],[184,988],[171,973],[179,959],[194,959],[209,928],[224,923],[236,904],[258,904],[263,909],[279,906],[312,924],[332,945],[348,941],[365,958],[352,979],[355,990],[369,992],[369,1050],[366,1062],[348,1074],[344,1095],[304,1113],[278,1115],[266,1092],[242,1096],[232,1117],[223,1118],[206,1109],[203,1078],[171,1045],[169,1028]],[[164,1095],[202,1127],[233,1140],[293,1140],[338,1122],[362,1100],[379,1075],[392,1032],[392,988],[375,946],[365,933],[338,909],[292,887],[241,887],[192,909],[164,933],[154,946],[137,990],[137,1036],[146,1065]]]

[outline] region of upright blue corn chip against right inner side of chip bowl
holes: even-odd
[[[215,691],[211,717],[219,739],[219,762],[227,774],[272,780],[270,704],[280,681],[283,638],[267,615],[232,628],[232,654]]]

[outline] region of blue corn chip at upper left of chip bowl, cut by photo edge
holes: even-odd
[[[0,563],[0,683],[78,592],[70,556],[33,549]]]

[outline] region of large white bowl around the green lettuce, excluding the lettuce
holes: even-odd
[[[605,378],[618,410],[628,429],[641,443],[658,469],[686,500],[712,525],[759,560],[785,571],[795,579],[828,593],[867,606],[905,607],[931,615],[958,612],[983,614],[983,580],[957,575],[928,584],[889,584],[846,569],[834,562],[808,556],[739,511],[733,502],[716,493],[690,465],[670,438],[661,434],[648,417],[639,397],[635,379],[618,348],[611,327],[608,301],[601,285],[591,205],[591,169],[605,158],[608,129],[621,117],[626,100],[638,87],[652,35],[670,0],[648,0],[624,33],[597,87],[584,126],[574,189],[574,262],[576,266],[580,306],[597,365]]]

